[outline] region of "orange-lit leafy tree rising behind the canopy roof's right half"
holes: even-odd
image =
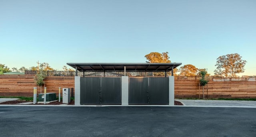
[[[168,56],[168,52],[164,52],[164,53],[158,53],[158,52],[151,52],[147,55],[145,55],[146,59],[148,61],[146,61],[146,63],[171,63],[171,61],[169,60],[170,57]],[[167,72],[168,75],[170,75],[170,72]],[[165,73],[164,72],[153,72],[154,76],[164,76]]]

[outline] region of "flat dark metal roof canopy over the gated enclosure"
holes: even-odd
[[[169,72],[182,63],[67,63],[82,72]],[[173,71],[172,71],[173,75]]]

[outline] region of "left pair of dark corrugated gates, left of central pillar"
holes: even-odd
[[[80,104],[122,104],[120,77],[81,77]]]

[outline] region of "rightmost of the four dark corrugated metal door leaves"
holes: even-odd
[[[149,78],[150,104],[169,104],[169,78]]]

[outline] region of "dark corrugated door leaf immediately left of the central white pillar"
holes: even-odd
[[[121,102],[121,78],[102,78],[102,104],[122,104]]]

